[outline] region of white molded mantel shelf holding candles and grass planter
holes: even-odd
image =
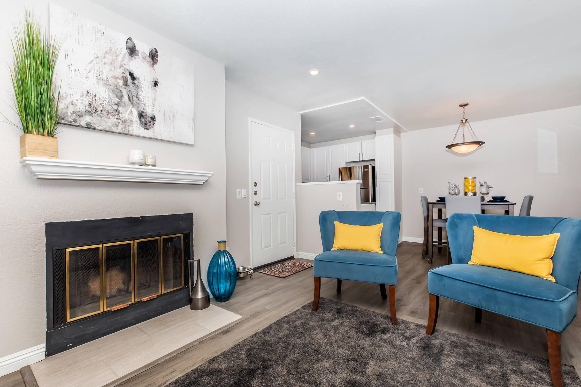
[[[23,157],[20,164],[37,179],[92,180],[101,182],[139,182],[170,184],[203,184],[214,172],[188,171],[103,162]]]

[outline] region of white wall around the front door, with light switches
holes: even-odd
[[[228,251],[236,265],[250,266],[250,201],[248,118],[295,132],[295,182],[301,180],[300,114],[226,82],[226,202]],[[236,188],[248,197],[236,198]]]

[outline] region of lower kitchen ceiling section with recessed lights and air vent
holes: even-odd
[[[370,117],[382,117],[377,123]],[[349,125],[355,125],[349,128]],[[303,142],[320,142],[374,135],[376,130],[393,128],[394,122],[365,99],[307,111],[300,115],[300,137]],[[310,135],[311,132],[315,134]]]

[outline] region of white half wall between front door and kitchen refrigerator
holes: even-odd
[[[356,180],[300,183],[296,188],[297,256],[314,259],[323,252],[319,227],[321,211],[360,211],[361,183]],[[338,192],[342,193],[341,201],[337,200]]]

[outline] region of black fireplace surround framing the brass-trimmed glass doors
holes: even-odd
[[[193,256],[192,231],[193,214],[46,223],[46,355],[55,355],[188,305],[187,262]],[[64,315],[66,305],[63,307],[63,297],[67,292],[64,267],[66,249],[156,237],[161,237],[163,241],[163,237],[176,234],[183,234],[183,288],[170,289],[155,298],[135,301],[121,309],[105,310],[67,322]],[[134,286],[133,283],[131,286]]]

